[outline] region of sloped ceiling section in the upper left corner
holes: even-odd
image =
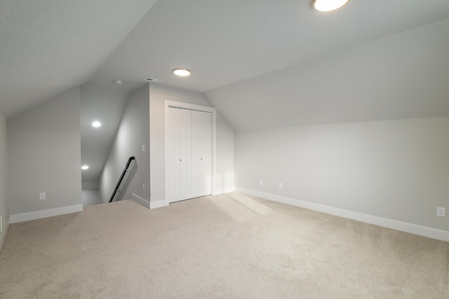
[[[90,78],[156,0],[0,0],[0,113]]]

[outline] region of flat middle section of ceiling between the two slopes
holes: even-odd
[[[309,0],[158,1],[91,81],[204,92],[448,17],[447,0],[353,0],[328,14]]]

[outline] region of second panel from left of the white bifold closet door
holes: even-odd
[[[192,111],[180,110],[180,200],[192,198]]]

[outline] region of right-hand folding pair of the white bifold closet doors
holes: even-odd
[[[212,113],[192,111],[192,197],[212,193]]]

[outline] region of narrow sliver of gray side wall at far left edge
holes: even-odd
[[[0,251],[6,239],[9,223],[8,207],[8,158],[6,146],[6,118],[0,114],[0,215],[3,215],[0,223]]]

